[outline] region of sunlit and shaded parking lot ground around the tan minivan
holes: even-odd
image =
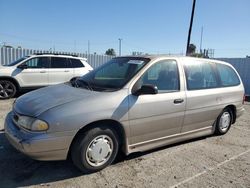
[[[12,103],[0,101],[0,187],[250,187],[250,103],[224,136],[121,155],[89,175],[70,161],[35,161],[9,145],[3,124]]]

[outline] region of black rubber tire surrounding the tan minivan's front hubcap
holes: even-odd
[[[101,135],[106,135],[112,139],[113,150],[110,154],[109,159],[104,164],[102,164],[101,166],[91,166],[87,160],[86,152],[93,139]],[[84,174],[94,173],[109,166],[116,158],[119,150],[118,138],[119,137],[116,131],[108,126],[98,126],[78,135],[73,141],[70,151],[71,159],[74,165]]]

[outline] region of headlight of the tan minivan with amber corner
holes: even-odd
[[[49,128],[45,121],[28,116],[19,116],[17,124],[31,131],[46,131]]]

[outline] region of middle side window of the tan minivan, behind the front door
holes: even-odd
[[[210,63],[190,62],[184,65],[188,90],[218,87],[216,74]]]

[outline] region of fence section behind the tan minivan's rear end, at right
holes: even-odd
[[[240,74],[246,95],[250,96],[250,58],[219,58],[218,60],[228,62],[234,66]]]

